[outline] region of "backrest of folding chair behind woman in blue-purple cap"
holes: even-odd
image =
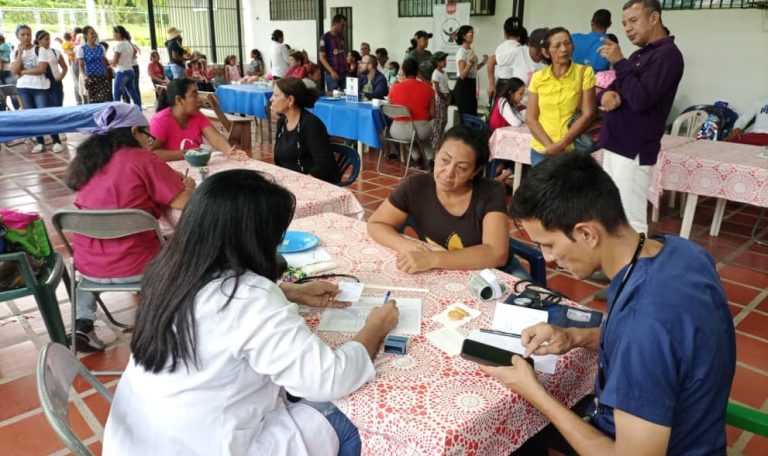
[[[157,219],[141,209],[59,209],[53,214],[52,222],[70,255],[72,246],[64,236],[65,231],[93,239],[119,239],[155,231],[160,243],[165,243]]]

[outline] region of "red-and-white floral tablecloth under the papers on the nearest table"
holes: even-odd
[[[467,271],[434,271],[408,275],[397,270],[394,254],[376,244],[365,223],[326,213],[297,219],[291,229],[310,231],[321,239],[338,269],[366,284],[426,288],[429,293],[393,291],[393,297],[423,300],[421,334],[411,338],[406,356],[379,354],[376,378],[336,405],[357,425],[367,455],[508,455],[548,422],[527,401],[478,370],[475,363],[450,357],[425,334],[438,329],[431,318],[447,305],[462,301],[482,316],[460,330],[490,327],[493,303],[475,300],[467,289]],[[497,272],[508,286],[515,279]],[[365,289],[365,296],[384,290]],[[307,309],[315,328],[322,310]],[[350,335],[318,332],[337,347]],[[539,379],[560,401],[573,405],[593,390],[597,373],[594,353],[576,349],[560,358],[555,374]]]

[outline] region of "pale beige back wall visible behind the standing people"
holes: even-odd
[[[270,22],[268,0],[244,0],[245,43],[269,49],[273,29],[285,32],[286,42],[314,55],[317,47],[314,21]],[[598,8],[613,13],[610,31],[619,36],[625,54],[636,48],[621,28],[621,5],[617,0],[528,0],[524,24],[531,31],[541,26],[562,25],[571,31],[587,31]],[[432,18],[398,18],[396,0],[326,0],[328,7],[351,6],[354,47],[361,41],[386,47],[390,57],[402,61],[408,40],[416,30],[431,30]],[[512,10],[512,0],[496,2],[495,17],[473,16],[475,49],[490,54],[502,39],[502,24]],[[329,18],[326,11],[326,24]],[[676,36],[685,57],[685,74],[678,90],[673,115],[698,103],[728,100],[738,108],[755,96],[768,94],[768,10],[665,11],[665,24]],[[481,94],[487,78],[480,72]],[[481,100],[482,101],[482,100]]]

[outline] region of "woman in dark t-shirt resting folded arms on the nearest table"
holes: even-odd
[[[507,263],[505,191],[502,184],[483,177],[489,155],[482,133],[465,126],[452,128],[438,144],[433,174],[409,177],[371,215],[368,233],[397,251],[400,270],[414,274]],[[426,244],[398,232],[409,217]],[[527,274],[519,269],[521,275]]]

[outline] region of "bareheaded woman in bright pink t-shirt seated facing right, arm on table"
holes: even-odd
[[[165,161],[184,158],[182,149],[193,149],[203,144],[203,138],[227,154],[244,154],[219,133],[200,112],[197,84],[191,79],[174,79],[165,95],[157,102],[157,112],[149,121],[152,135],[158,144],[154,152]],[[183,147],[182,147],[183,142]]]

